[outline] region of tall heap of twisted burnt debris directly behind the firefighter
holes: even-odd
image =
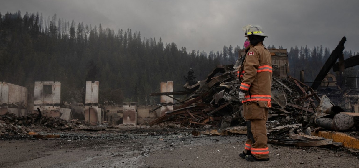
[[[219,65],[207,79],[194,85],[186,84],[186,91],[152,93],[151,95],[187,94],[188,99],[173,103],[177,105],[174,110],[165,112],[165,115],[152,121],[150,125],[161,122],[173,122],[186,127],[244,125],[243,104],[238,99],[240,84],[233,65]],[[334,104],[325,95],[319,97],[311,87],[299,80],[291,76],[277,78],[272,81],[272,107],[268,118],[270,122],[288,124],[290,121],[294,124],[301,122],[299,118],[303,121],[303,116],[316,116],[331,106]]]

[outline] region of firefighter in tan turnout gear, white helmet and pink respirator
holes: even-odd
[[[260,26],[252,25],[245,30],[244,36],[250,45],[246,47],[242,61],[238,97],[243,103],[248,140],[239,156],[247,161],[267,161],[266,121],[271,107],[272,60],[263,40],[268,36]]]

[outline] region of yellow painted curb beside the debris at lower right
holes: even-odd
[[[334,142],[343,143],[343,147],[350,149],[359,149],[359,137],[350,136],[343,132],[336,131],[318,131],[312,132],[314,136],[321,136],[326,139],[333,139]]]

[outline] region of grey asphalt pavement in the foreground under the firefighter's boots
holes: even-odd
[[[0,140],[0,167],[359,167],[358,154],[341,147],[297,148],[269,144],[269,161],[247,162],[238,156],[246,136],[194,137],[190,131],[81,134],[80,138]]]

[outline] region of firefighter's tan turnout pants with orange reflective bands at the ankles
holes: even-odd
[[[259,104],[258,101],[243,103],[248,136],[244,153],[250,152],[257,159],[267,159],[269,158],[266,127],[268,108],[260,105],[262,104]]]

